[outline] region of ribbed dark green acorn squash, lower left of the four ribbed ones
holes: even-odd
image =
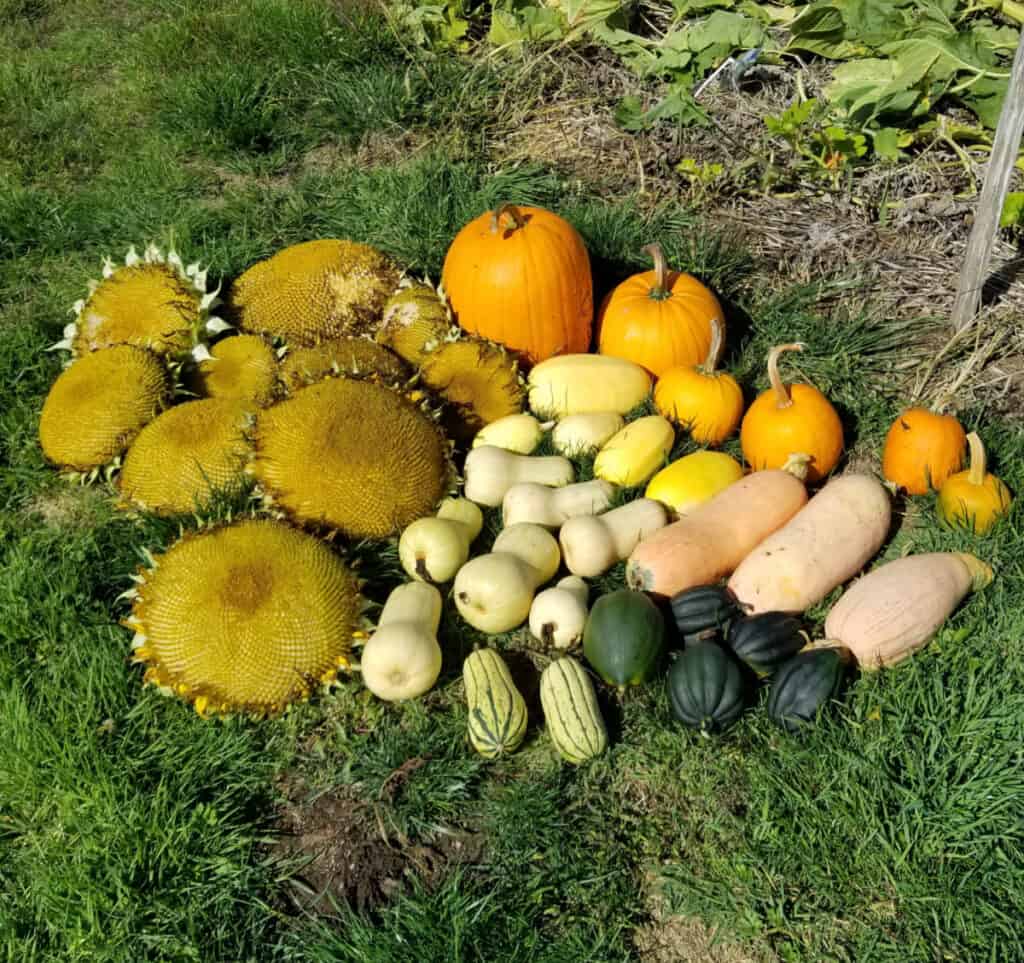
[[[715,642],[692,642],[669,669],[672,714],[707,736],[721,731],[743,711],[743,673]]]

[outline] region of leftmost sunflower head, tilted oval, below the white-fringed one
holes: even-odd
[[[53,382],[39,419],[46,458],[89,471],[120,455],[170,401],[171,381],[160,359],[121,345],[93,351]]]

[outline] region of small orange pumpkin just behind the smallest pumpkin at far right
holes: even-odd
[[[940,489],[964,465],[967,436],[952,415],[908,408],[886,435],[882,473],[909,495]]]

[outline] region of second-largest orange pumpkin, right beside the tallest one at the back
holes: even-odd
[[[644,248],[654,269],[627,278],[597,315],[598,351],[625,358],[658,377],[699,365],[711,347],[711,322],[725,324],[718,299],[696,278],[670,271],[662,248]]]

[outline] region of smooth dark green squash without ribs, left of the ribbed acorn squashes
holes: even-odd
[[[654,674],[665,643],[665,620],[643,592],[602,595],[587,617],[583,654],[605,682],[625,688]]]

